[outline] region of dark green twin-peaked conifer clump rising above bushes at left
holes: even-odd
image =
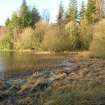
[[[22,28],[25,28],[27,26],[33,27],[35,23],[40,20],[40,15],[37,9],[34,7],[31,11],[27,6],[26,0],[23,0],[19,13],[21,21],[20,25]]]

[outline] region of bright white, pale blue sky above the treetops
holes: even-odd
[[[36,7],[42,15],[45,10],[48,10],[51,22],[56,21],[58,8],[61,0],[26,0],[30,8]],[[78,0],[80,7],[82,0]],[[67,9],[69,0],[62,0],[64,8]],[[2,0],[0,3],[0,25],[4,25],[8,17],[11,17],[13,12],[18,11],[22,4],[22,0]]]

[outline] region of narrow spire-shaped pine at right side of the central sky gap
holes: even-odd
[[[63,21],[64,21],[64,8],[63,8],[63,5],[62,5],[62,2],[60,2],[59,13],[58,13],[58,17],[57,17],[58,25],[63,24]]]

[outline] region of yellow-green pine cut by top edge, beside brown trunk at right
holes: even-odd
[[[86,18],[89,24],[96,22],[96,3],[95,0],[88,0]]]

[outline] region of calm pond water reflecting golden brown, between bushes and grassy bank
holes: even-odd
[[[69,55],[0,52],[0,78],[5,74],[53,67],[65,59],[69,59]]]

